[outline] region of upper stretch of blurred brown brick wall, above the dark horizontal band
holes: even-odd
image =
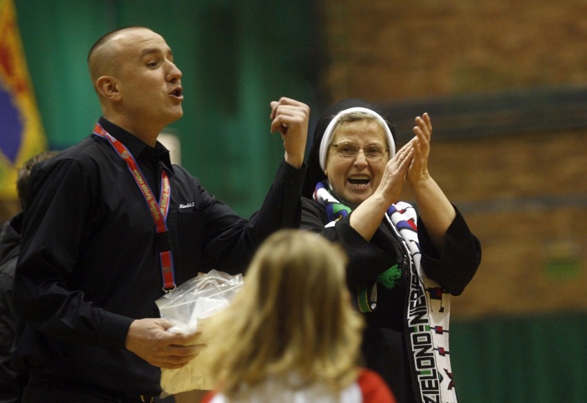
[[[587,83],[583,0],[322,0],[331,99]]]

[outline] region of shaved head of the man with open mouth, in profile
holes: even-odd
[[[183,115],[182,73],[156,32],[130,27],[105,34],[87,63],[105,118],[133,134],[158,132]]]

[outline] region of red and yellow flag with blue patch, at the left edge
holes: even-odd
[[[47,149],[12,0],[0,0],[0,198],[16,198],[18,168]]]

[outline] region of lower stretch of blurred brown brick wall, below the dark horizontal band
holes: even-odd
[[[459,318],[587,309],[586,130],[442,141],[430,169],[483,247]]]

